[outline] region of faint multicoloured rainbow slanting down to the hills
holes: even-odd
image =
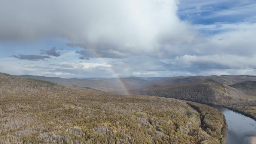
[[[92,48],[89,45],[86,45],[86,48],[88,48],[89,50],[91,50],[92,53],[94,53],[94,55],[98,58],[102,58],[102,56],[100,55],[100,53],[98,53],[94,48]],[[101,59],[104,63],[107,63],[106,61],[104,61],[104,59]],[[113,76],[115,76],[115,78],[118,80],[118,83],[120,84],[120,86],[122,87],[124,94],[125,95],[130,95],[128,89],[126,88],[124,81],[119,77],[119,74],[116,73],[116,71],[110,67],[110,71],[113,74]]]

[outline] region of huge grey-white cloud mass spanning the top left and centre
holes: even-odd
[[[187,24],[176,15],[177,3],[177,0],[45,0],[40,3],[3,0],[0,40],[61,37],[85,42],[92,49],[99,42],[119,49],[129,43],[147,52],[163,40],[176,42],[181,40],[177,36],[189,36]]]

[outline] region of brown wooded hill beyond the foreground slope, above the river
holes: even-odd
[[[195,83],[154,85],[142,89],[131,89],[129,92],[208,104],[256,104],[256,96],[247,95],[243,88],[236,89],[233,87],[208,79]]]

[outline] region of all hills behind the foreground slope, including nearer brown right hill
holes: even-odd
[[[119,82],[121,79],[126,91],[130,94],[170,97],[210,104],[256,105],[255,76],[123,77],[119,79],[62,79],[30,75],[20,77],[125,94]]]

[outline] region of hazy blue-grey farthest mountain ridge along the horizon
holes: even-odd
[[[19,77],[45,80],[58,84],[76,85],[81,87],[90,87],[103,91],[120,91],[122,86],[117,78],[100,78],[100,79],[63,79],[60,77],[44,77],[22,75]],[[193,83],[202,80],[212,79],[220,84],[233,85],[235,83],[256,81],[256,76],[189,76],[189,77],[122,77],[120,78],[127,89],[145,88],[153,85],[173,85],[180,83]]]

